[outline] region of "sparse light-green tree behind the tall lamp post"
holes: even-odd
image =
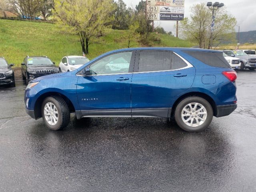
[[[197,42],[200,48],[211,47],[212,11],[205,3],[195,4],[190,7],[190,18],[184,18],[179,23],[179,31],[182,38]],[[213,44],[218,46],[221,42],[234,39],[234,27],[236,18],[227,14],[222,7],[215,12],[215,26]]]

